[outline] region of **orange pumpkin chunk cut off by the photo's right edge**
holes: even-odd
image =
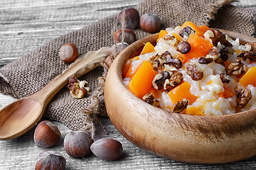
[[[256,67],[250,67],[239,80],[240,84],[246,87],[248,84],[256,86]]]

